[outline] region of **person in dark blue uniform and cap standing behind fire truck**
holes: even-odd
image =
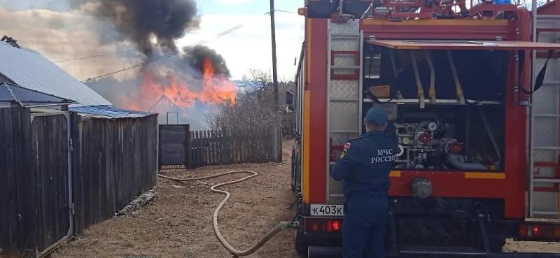
[[[332,177],[344,181],[346,197],[342,252],[344,258],[384,258],[389,172],[398,138],[381,106],[367,110],[363,122],[365,134],[344,145],[332,169]]]

